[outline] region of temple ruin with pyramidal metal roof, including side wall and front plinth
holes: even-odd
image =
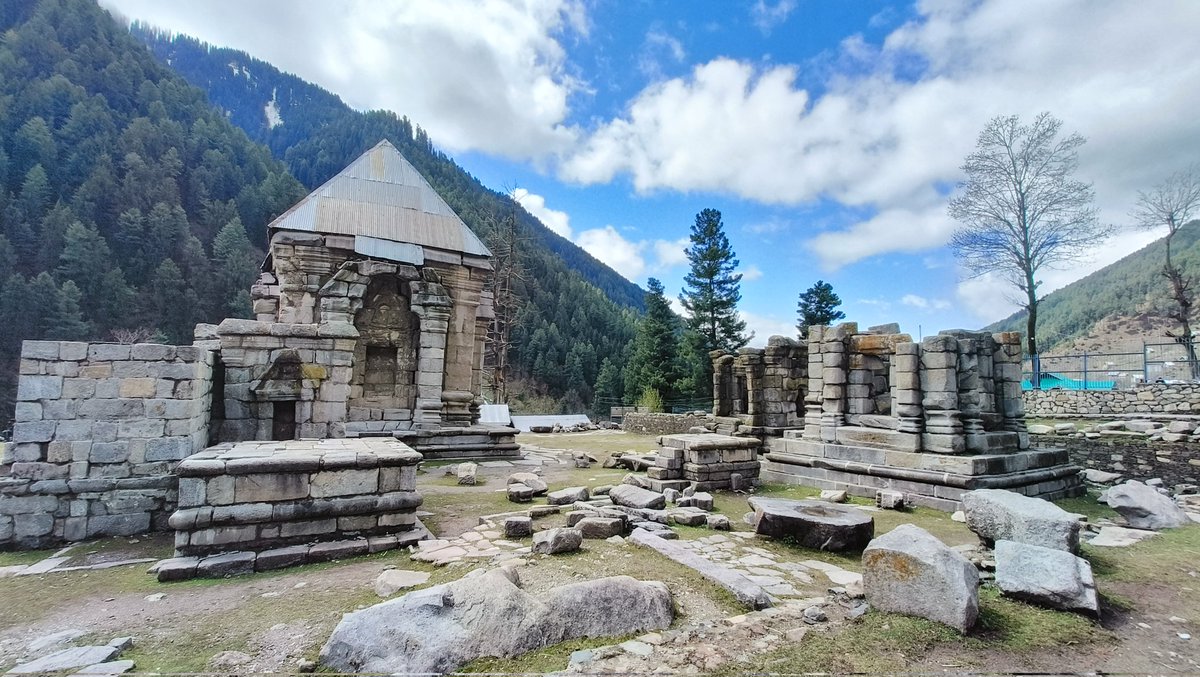
[[[0,547],[168,527],[180,555],[395,547],[425,534],[421,457],[518,455],[478,423],[491,254],[391,144],[269,235],[254,319],[192,346],[25,342]]]

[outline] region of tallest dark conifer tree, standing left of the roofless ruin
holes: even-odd
[[[725,236],[720,211],[706,209],[696,215],[688,262],[691,271],[684,277],[679,300],[691,313],[688,328],[702,338],[703,352],[736,351],[745,346],[750,336],[737,310],[742,300],[742,274],[733,272],[738,259]]]

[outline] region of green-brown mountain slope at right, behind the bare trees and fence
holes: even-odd
[[[1171,258],[1186,274],[1200,277],[1200,221],[1180,229]],[[1147,314],[1165,318],[1171,308],[1170,288],[1163,277],[1165,240],[1136,252],[1046,294],[1038,306],[1039,348],[1044,353],[1087,334],[1106,317]],[[989,331],[1025,331],[1025,312],[985,328]],[[1169,341],[1165,336],[1164,341]]]

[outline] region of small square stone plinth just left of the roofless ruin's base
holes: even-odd
[[[758,477],[758,439],[727,435],[664,435],[647,474],[654,480],[685,480],[698,491],[728,489],[730,475]]]

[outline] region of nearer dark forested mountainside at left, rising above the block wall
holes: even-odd
[[[282,162],[91,0],[0,0],[0,429],[23,338],[248,316]],[[252,244],[253,242],[253,244]]]

